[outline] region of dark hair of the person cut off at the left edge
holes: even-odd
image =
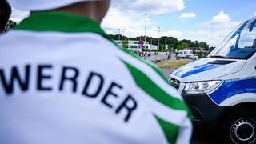
[[[11,14],[11,7],[6,0],[0,0],[0,30],[4,30]]]

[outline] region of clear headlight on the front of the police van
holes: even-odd
[[[184,91],[187,94],[209,93],[216,89],[222,81],[187,82]]]

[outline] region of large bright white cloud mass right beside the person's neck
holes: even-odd
[[[158,38],[158,26],[151,21],[151,15],[167,14],[184,8],[183,0],[113,0],[102,27],[108,34],[119,34],[118,29],[124,29],[122,34],[127,37],[138,37],[145,35],[146,25],[146,36]],[[177,30],[166,33],[178,38],[182,35]]]

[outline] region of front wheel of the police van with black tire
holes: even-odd
[[[231,112],[222,122],[219,138],[225,143],[256,142],[256,110]]]

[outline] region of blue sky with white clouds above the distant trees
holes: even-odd
[[[112,0],[102,27],[127,37],[158,38],[160,30],[160,37],[218,46],[235,26],[256,15],[255,7],[255,0]],[[14,9],[11,18],[18,22],[28,14]]]

